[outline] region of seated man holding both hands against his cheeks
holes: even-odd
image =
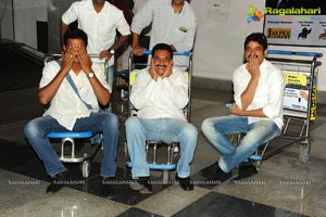
[[[189,164],[198,132],[185,119],[183,108],[189,102],[188,84],[184,73],[173,68],[173,50],[168,44],[158,43],[153,48],[151,65],[137,75],[130,102],[138,110],[138,115],[125,123],[133,178],[151,191],[146,140],[180,142],[177,179],[184,190],[193,190]]]

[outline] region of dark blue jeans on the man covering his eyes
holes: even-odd
[[[47,115],[37,117],[25,126],[25,136],[43,162],[47,174],[54,177],[64,171],[65,167],[53,150],[47,133],[52,131],[70,131],[61,126],[53,117]],[[103,158],[101,166],[102,177],[114,177],[116,170],[116,152],[118,141],[118,119],[112,113],[91,113],[89,117],[78,118],[73,131],[102,132],[104,138]]]

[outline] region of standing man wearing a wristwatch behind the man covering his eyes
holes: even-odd
[[[68,25],[75,21],[78,21],[78,28],[83,29],[88,36],[88,53],[98,54],[99,61],[109,60],[110,67],[106,79],[112,88],[114,53],[127,42],[130,35],[129,25],[123,11],[105,0],[76,1],[62,15],[61,39],[68,29]],[[117,40],[116,30],[121,34]]]

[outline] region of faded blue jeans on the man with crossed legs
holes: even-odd
[[[218,166],[225,173],[237,167],[261,144],[280,133],[280,129],[272,120],[260,120],[249,125],[247,117],[234,115],[204,119],[201,130],[222,154]],[[226,135],[240,132],[246,132],[246,136],[239,146],[235,146]]]

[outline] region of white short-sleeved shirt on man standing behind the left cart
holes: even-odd
[[[130,28],[126,22],[123,11],[105,1],[103,9],[97,13],[91,0],[76,1],[62,15],[62,22],[66,25],[78,21],[78,28],[88,36],[87,52],[99,54],[108,50],[115,41],[116,30],[126,36],[130,34]],[[112,58],[109,65],[113,65]]]

